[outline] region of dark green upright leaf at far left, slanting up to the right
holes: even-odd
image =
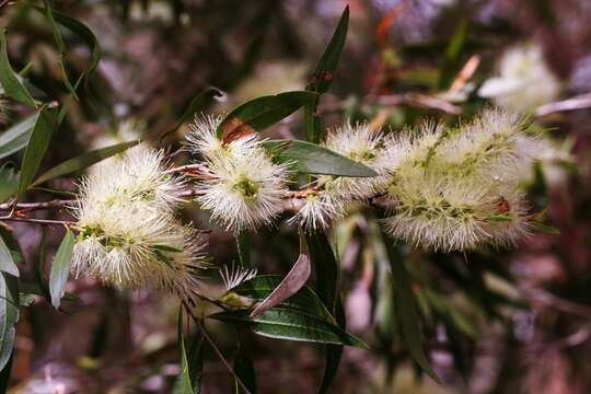
[[[56,126],[57,109],[47,108],[46,106],[42,107],[37,114],[33,132],[25,149],[16,198],[20,199],[31,182],[33,182],[43,157],[49,147]]]

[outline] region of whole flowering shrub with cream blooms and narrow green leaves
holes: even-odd
[[[251,331],[271,338],[325,345],[321,392],[327,390],[343,347],[368,347],[347,331],[338,244],[327,235],[332,233],[335,240],[340,236],[341,223],[349,218],[357,218],[376,235],[375,240],[383,241],[375,242],[372,253],[394,256],[389,268],[380,268],[392,278],[375,283],[379,291],[393,292],[393,305],[380,304],[376,309],[396,315],[395,329],[404,347],[426,373],[438,380],[420,334],[424,323],[419,301],[428,301],[416,297],[408,268],[395,258],[396,253],[498,253],[514,247],[541,227],[538,210],[526,197],[526,185],[535,165],[543,158],[553,158],[555,149],[525,115],[555,100],[558,82],[543,65],[536,47],[510,49],[500,62],[500,77],[479,89],[482,97],[493,97],[499,107],[487,104],[472,116],[425,118],[406,127],[349,119],[325,131],[320,103],[345,45],[347,9],[305,90],[260,96],[221,115],[208,115],[205,103],[219,95],[217,89],[208,89],[167,132],[172,135],[189,123],[178,150],[155,148],[158,143],[149,136],[140,142],[141,130],[149,127],[127,120],[121,121],[117,136],[95,141],[93,150],[38,175],[51,136],[69,116],[71,102],[90,95],[89,81],[101,51],[85,25],[51,10],[47,2],[44,7],[23,7],[47,18],[56,45],[63,46],[63,30],[82,36],[91,59],[76,82],[61,68],[68,99],[58,102],[58,97],[37,94],[14,71],[5,34],[0,32],[3,95],[10,105],[28,106],[33,112],[0,135],[2,158],[24,150],[18,175],[0,166],[5,184],[0,193],[0,288],[7,300],[0,314],[10,316],[2,323],[2,369],[10,369],[18,305],[23,303],[19,290],[13,290],[20,283],[14,258],[20,252],[8,230],[12,222],[66,229],[48,280],[39,274],[36,285],[40,289],[37,296],[56,309],[72,296],[66,293],[69,274],[72,280],[89,277],[124,290],[177,296],[181,371],[174,384],[181,393],[199,390],[196,376],[202,369],[204,341],[229,368],[236,387],[256,391],[252,368],[244,368],[244,362],[251,362],[250,356],[239,352],[236,366],[230,367],[206,328],[205,322],[211,320],[224,322],[237,333]],[[538,86],[544,89],[540,91]],[[2,99],[0,124],[7,121],[4,103]],[[455,111],[451,102],[444,105]],[[304,113],[306,141],[267,138],[265,129],[290,116],[294,119],[292,114],[300,109]],[[190,116],[195,116],[193,123]],[[26,138],[21,143],[18,138],[23,136]],[[569,155],[556,158],[568,161]],[[32,188],[85,170],[85,175],[77,178],[74,198],[25,201]],[[62,208],[70,220],[30,213]],[[181,215],[182,210],[208,212],[210,225],[198,228]],[[220,265],[208,255],[207,233],[216,225],[236,240],[239,258],[233,266]],[[250,260],[250,236],[280,227],[299,234],[299,256],[294,256],[296,263],[286,276],[260,275]],[[434,293],[422,296],[431,297],[433,308],[443,309],[433,301]],[[185,338],[192,334],[197,346],[189,346]],[[246,347],[243,340],[239,335],[241,349]]]

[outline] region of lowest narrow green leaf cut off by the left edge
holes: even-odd
[[[12,355],[18,321],[19,279],[0,273],[0,370],[4,369]]]

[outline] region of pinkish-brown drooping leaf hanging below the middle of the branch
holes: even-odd
[[[310,258],[301,254],[283,280],[251,312],[251,318],[259,316],[296,294],[305,285],[308,278],[310,278]]]

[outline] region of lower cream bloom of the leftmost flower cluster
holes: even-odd
[[[205,242],[190,227],[134,204],[97,207],[81,201],[77,213],[82,229],[72,257],[77,277],[182,297],[198,290]]]

